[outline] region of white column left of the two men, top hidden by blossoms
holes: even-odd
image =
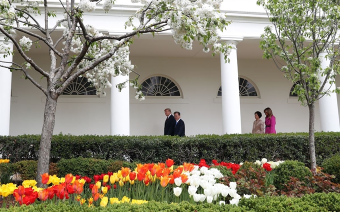
[[[130,99],[129,83],[118,91],[116,84],[126,81],[127,76],[111,76],[111,100],[110,100],[110,134],[130,135]]]

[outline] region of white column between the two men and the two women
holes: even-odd
[[[233,48],[229,54],[230,62],[225,62],[224,55],[220,53],[223,134],[241,133],[236,52],[238,41],[228,40],[226,43],[230,44]]]

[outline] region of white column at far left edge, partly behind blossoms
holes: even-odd
[[[4,35],[0,35],[0,43],[4,41]],[[13,43],[9,41],[7,44],[10,49],[13,49]],[[0,65],[10,66],[13,56],[7,55],[3,58],[0,54]],[[9,114],[10,114],[10,89],[12,82],[12,72],[8,68],[0,67],[0,135],[9,135]]]

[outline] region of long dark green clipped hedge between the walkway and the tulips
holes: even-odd
[[[37,160],[40,135],[0,136],[0,154],[11,162]],[[316,161],[340,153],[340,132],[315,133]],[[204,158],[228,162],[298,160],[309,165],[308,134],[226,134],[177,136],[98,136],[53,135],[50,162],[61,158],[157,162],[172,158],[175,162],[194,162]]]

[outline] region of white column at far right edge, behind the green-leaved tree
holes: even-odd
[[[326,52],[322,52],[319,57],[321,60],[321,67],[322,69],[328,67],[329,60],[324,58],[327,55]],[[324,81],[324,76],[321,74],[318,75],[319,79]],[[329,83],[325,84],[325,89],[329,87]],[[329,90],[335,89],[335,83],[333,83]],[[336,93],[330,93],[330,95],[324,95],[319,100],[319,112],[320,112],[320,125],[321,131],[340,131],[340,124],[339,124],[339,113],[337,108],[337,100],[336,100]]]

